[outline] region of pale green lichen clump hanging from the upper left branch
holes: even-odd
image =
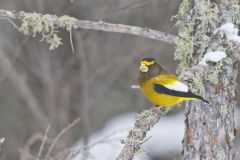
[[[57,17],[49,14],[39,13],[24,13],[20,31],[25,35],[32,35],[35,37],[37,34],[42,35],[42,41],[46,41],[50,50],[56,49],[62,44],[62,38],[58,36],[58,29],[65,28],[71,31],[72,28],[77,28],[77,19],[62,16]]]

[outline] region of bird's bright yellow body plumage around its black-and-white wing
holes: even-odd
[[[171,83],[171,81],[165,81],[164,78],[159,79],[161,77],[157,77],[158,79],[156,79],[156,77],[139,84],[140,85],[140,89],[142,90],[143,94],[146,96],[146,98],[151,101],[154,105],[158,105],[158,106],[162,106],[162,107],[171,107],[173,105],[175,105],[176,103],[179,103],[181,101],[184,101],[186,99],[189,98],[184,98],[184,97],[177,97],[177,96],[171,96],[171,95],[167,95],[167,94],[160,94],[157,93],[154,90],[154,83],[156,81],[164,83],[165,84],[169,84]]]

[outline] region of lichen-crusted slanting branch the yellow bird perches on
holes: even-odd
[[[170,110],[171,108],[152,107],[138,114],[133,129],[122,142],[124,147],[117,160],[132,160],[135,153],[140,151],[141,145],[146,142],[147,132]]]

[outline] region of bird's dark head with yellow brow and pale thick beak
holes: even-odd
[[[139,71],[142,73],[151,72],[158,68],[158,64],[153,58],[143,58],[140,62]]]

